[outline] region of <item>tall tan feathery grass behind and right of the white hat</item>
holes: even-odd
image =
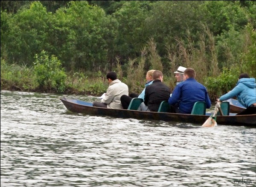
[[[199,42],[195,44],[189,30],[186,32],[187,37],[184,40],[175,38],[176,45],[166,46],[171,73],[175,72],[179,66],[193,68],[196,72],[196,80],[204,83],[206,77],[216,76],[219,72],[213,36],[205,27],[204,32],[199,36]],[[198,47],[195,47],[196,45]],[[169,80],[171,81],[169,85],[173,89],[176,79],[171,75]]]

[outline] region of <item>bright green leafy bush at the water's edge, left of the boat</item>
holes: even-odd
[[[45,51],[40,55],[35,55],[34,61],[35,80],[39,85],[39,89],[54,89],[58,93],[63,93],[66,89],[65,79],[67,75],[61,68],[61,62],[57,57],[49,56]]]

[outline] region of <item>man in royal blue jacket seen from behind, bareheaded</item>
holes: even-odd
[[[177,84],[168,102],[175,108],[175,111],[182,114],[191,114],[193,106],[197,101],[205,101],[206,108],[211,107],[211,101],[207,89],[195,80],[195,70],[187,68],[184,71],[184,81]]]

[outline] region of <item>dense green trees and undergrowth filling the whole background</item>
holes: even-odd
[[[194,68],[216,98],[241,72],[256,76],[255,28],[255,1],[1,1],[1,88],[17,86],[14,72],[54,61],[65,81],[47,82],[49,72],[41,72],[29,78],[39,87],[28,80],[18,87],[98,94],[106,72],[116,70],[140,92],[145,72],[159,69],[173,89],[181,65]],[[38,63],[43,51],[52,58]]]

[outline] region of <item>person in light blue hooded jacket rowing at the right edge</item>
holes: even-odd
[[[225,101],[227,99],[237,97],[239,103],[241,103],[246,109],[237,115],[256,114],[256,82],[255,78],[250,78],[246,73],[239,75],[239,81],[236,83],[236,87],[230,92],[222,95],[217,101]]]

